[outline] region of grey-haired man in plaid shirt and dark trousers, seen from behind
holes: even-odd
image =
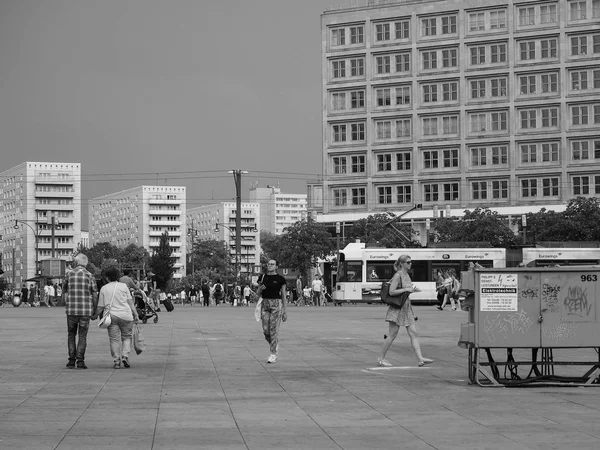
[[[94,276],[86,269],[88,258],[83,253],[75,256],[74,268],[65,278],[63,292],[66,296],[67,331],[69,346],[69,369],[87,369],[85,365],[85,348],[87,346],[87,332],[90,328],[90,319],[96,319],[96,306],[98,305],[98,288]],[[75,344],[75,337],[79,334],[79,341]]]

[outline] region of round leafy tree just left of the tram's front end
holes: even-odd
[[[319,259],[332,255],[336,247],[327,228],[310,218],[286,228],[280,236],[280,246],[278,265],[305,275]]]

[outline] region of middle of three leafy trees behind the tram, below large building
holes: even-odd
[[[488,242],[492,247],[512,246],[517,240],[502,217],[489,208],[465,210],[458,220],[437,219],[430,236],[438,242]]]

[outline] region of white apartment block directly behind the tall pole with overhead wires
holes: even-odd
[[[246,276],[253,273],[254,268],[260,265],[260,233],[257,226],[260,205],[254,202],[242,202],[241,209],[241,248],[238,263],[240,274]],[[189,248],[192,248],[193,239],[225,241],[229,248],[231,262],[235,264],[236,216],[235,202],[189,208],[186,214]]]

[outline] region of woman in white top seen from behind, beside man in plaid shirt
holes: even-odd
[[[131,367],[129,354],[131,353],[133,322],[138,321],[138,313],[129,288],[125,283],[118,281],[119,269],[110,267],[106,269],[104,275],[108,283],[100,289],[96,315],[110,314],[108,341],[113,358],[113,369],[120,369],[121,363],[126,369],[129,369]]]

